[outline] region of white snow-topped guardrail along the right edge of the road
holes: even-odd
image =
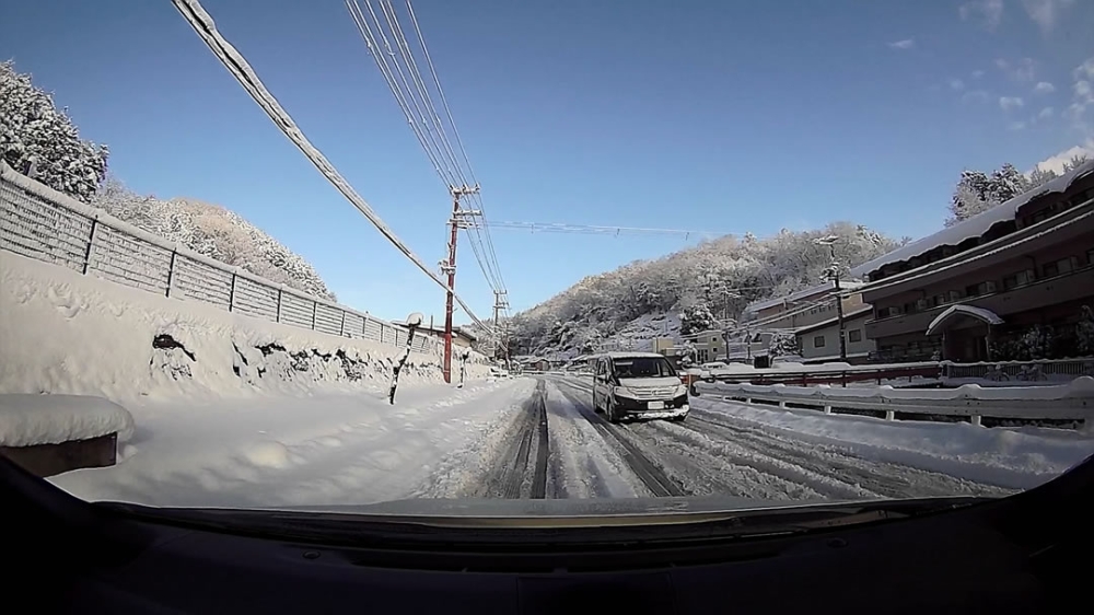
[[[1023,420],[1073,420],[1090,425],[1094,418],[1094,378],[1080,376],[1056,386],[981,388],[826,388],[699,382],[694,392],[746,404],[765,402],[780,408],[819,409],[824,414],[884,413],[888,420],[913,417],[967,417],[980,425],[982,417]],[[859,410],[859,411],[856,411]]]

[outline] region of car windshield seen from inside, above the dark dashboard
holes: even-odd
[[[4,4],[42,480],[672,515],[1094,453],[1094,2],[203,3]]]

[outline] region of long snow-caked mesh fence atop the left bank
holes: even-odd
[[[406,345],[403,327],[202,256],[16,173],[3,161],[0,250],[264,321]],[[440,351],[426,335],[415,336],[414,349]]]

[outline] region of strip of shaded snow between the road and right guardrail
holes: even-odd
[[[1062,429],[886,421],[812,410],[768,410],[710,398],[693,398],[691,407],[763,426],[775,438],[838,445],[868,461],[1014,489],[1047,483],[1094,454],[1094,438]]]

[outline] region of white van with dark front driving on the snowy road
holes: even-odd
[[[684,420],[687,386],[656,352],[607,352],[593,362],[593,408],[612,422],[625,418]]]

